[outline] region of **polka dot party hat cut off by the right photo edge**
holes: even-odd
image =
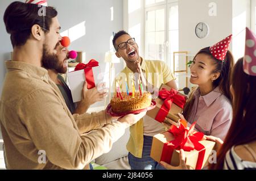
[[[256,76],[256,39],[254,33],[249,28],[246,28],[243,71],[248,75]]]

